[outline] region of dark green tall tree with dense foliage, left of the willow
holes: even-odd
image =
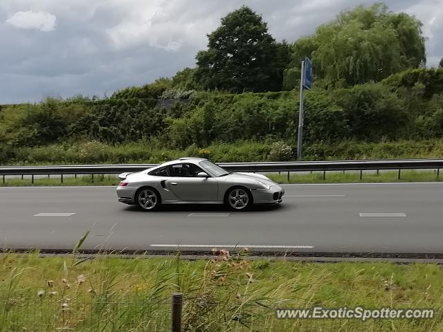
[[[279,91],[289,49],[275,42],[260,15],[242,6],[221,19],[196,59],[195,78],[208,89]]]

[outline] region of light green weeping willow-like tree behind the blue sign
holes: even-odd
[[[390,12],[381,3],[358,6],[293,44],[285,86],[296,85],[296,68],[305,56],[314,60],[315,73],[327,86],[379,81],[406,68],[423,66],[424,42],[422,23],[415,17]]]

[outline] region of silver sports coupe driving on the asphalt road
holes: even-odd
[[[261,174],[226,172],[204,158],[180,158],[138,173],[123,173],[118,201],[158,210],[162,204],[225,204],[248,210],[253,204],[278,204],[284,189]]]

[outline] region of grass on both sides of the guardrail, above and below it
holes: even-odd
[[[273,151],[272,142],[214,143],[204,149],[190,146],[188,149],[161,149],[159,142],[134,142],[124,145],[105,145],[100,142],[84,142],[73,145],[48,145],[46,147],[19,148],[14,151],[15,158],[4,165],[71,165],[71,164],[107,164],[107,163],[163,163],[166,160],[182,156],[199,156],[221,162],[275,161],[278,151]],[[317,144],[306,147],[306,160],[352,160],[352,159],[394,159],[394,158],[441,158],[443,141],[428,140],[422,142],[341,142],[331,145]],[[277,159],[278,160],[278,159]],[[323,172],[313,174],[271,174],[278,183],[358,183],[358,182],[412,182],[441,181],[436,170],[402,171],[398,179],[397,171],[364,172],[360,179],[359,172]],[[64,177],[63,185],[116,185],[115,176],[78,176]],[[6,177],[8,186],[19,185],[60,185],[60,176],[35,178]],[[0,181],[0,186],[3,185]]]

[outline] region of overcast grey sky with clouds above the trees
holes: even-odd
[[[0,104],[111,95],[195,65],[206,34],[242,4],[293,42],[356,0],[0,0]],[[387,0],[415,15],[428,66],[443,57],[443,0]]]

